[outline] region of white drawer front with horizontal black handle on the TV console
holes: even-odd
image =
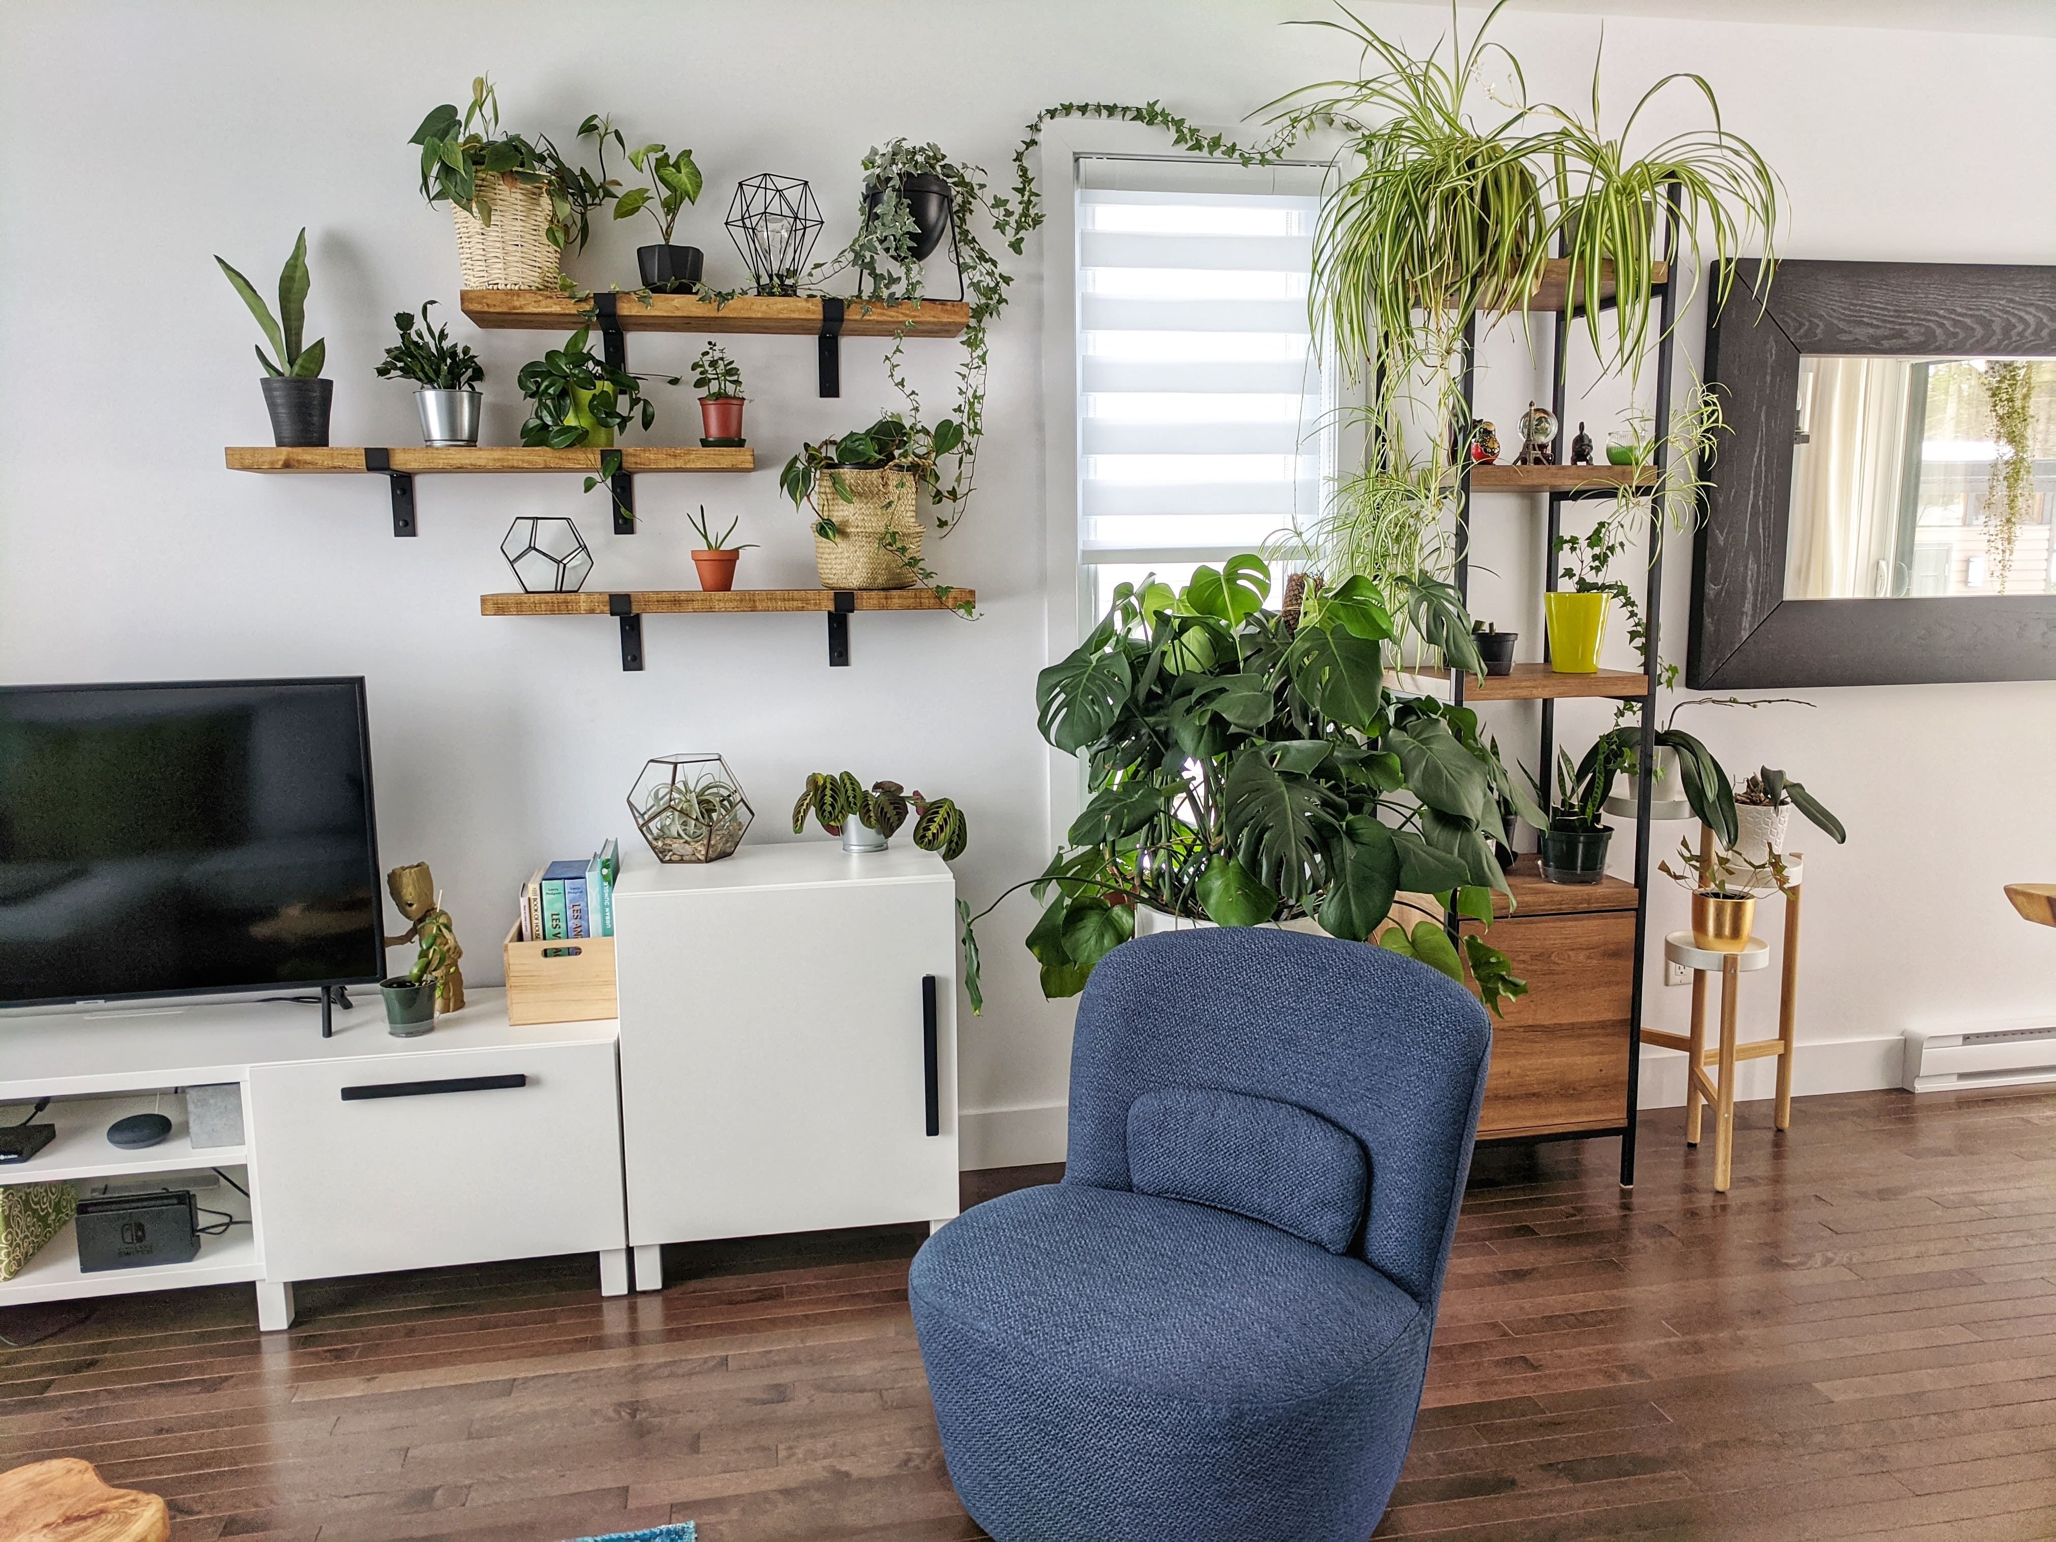
[[[255,1065],[251,1108],[269,1279],[623,1246],[611,1042]]]

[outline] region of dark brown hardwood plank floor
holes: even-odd
[[[1746,1104],[1727,1197],[1682,1123],[1632,1195],[1614,1141],[1478,1153],[1378,1536],[2056,1538],[2056,1094]],[[302,1285],[271,1336],[243,1287],[117,1297],[0,1351],[0,1468],[82,1456],[179,1542],[977,1538],[921,1236],[676,1248],[615,1301],[590,1258]]]

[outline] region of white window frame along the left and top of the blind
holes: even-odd
[[[1248,125],[1203,127],[1236,142],[1256,138]],[[1293,156],[1293,162],[1322,164],[1322,148],[1310,146]],[[1090,563],[1081,561],[1079,528],[1084,465],[1077,454],[1077,162],[1081,158],[1209,160],[1182,154],[1162,130],[1143,123],[1059,119],[1042,130],[1036,187],[1042,195],[1044,664],[1055,664],[1077,648],[1098,619],[1092,615],[1094,586]],[[1084,761],[1051,746],[1049,790],[1049,847],[1055,851],[1086,806]]]

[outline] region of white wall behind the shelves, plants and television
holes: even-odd
[[[1349,66],[1334,35],[1273,25],[1316,12],[1219,0],[10,8],[0,678],[370,676],[384,855],[434,864],[477,981],[498,979],[514,884],[543,857],[631,835],[623,794],[644,757],[676,748],[732,759],[761,837],[781,835],[812,769],[954,794],[975,829],[960,888],[983,903],[1049,851],[1030,699],[1047,658],[1034,243],[1014,263],[1016,302],[993,345],[985,489],[931,557],[979,588],[985,619],[857,617],[855,664],[835,672],[810,617],[646,621],[650,666],[623,674],[611,623],[485,621],[477,596],[510,586],[495,547],[514,514],[578,514],[598,555],[592,588],[691,586],[685,514],[699,502],[740,514],[742,537],[761,543],[744,584],[810,584],[806,526],[779,500],[777,465],[800,438],[890,405],[882,345],[847,341],[845,397],[824,403],[804,339],[736,339],[761,471],[646,477],[637,537],[607,535],[600,500],[572,479],[424,477],[421,535],[395,541],[372,479],[224,473],[222,446],[261,444],[267,428],[255,329],[210,253],[267,286],[306,224],[310,329],[327,335],[337,380],[333,438],[409,444],[409,393],[370,366],[391,313],[430,296],[454,313],[458,284],[448,214],[419,201],[405,140],[479,70],[500,82],[512,127],[567,142],[586,111],[611,109],[631,140],[691,144],[707,191],[681,241],[734,284],[720,218],[738,177],[808,177],[827,249],[851,228],[857,160],[874,142],[933,138],[1001,181],[1018,125],[1053,101],[1160,97],[1234,121]],[[1433,8],[1367,14],[1421,39],[1441,25]],[[1503,35],[1538,95],[1583,97],[1589,19],[1513,14]],[[1787,179],[1793,255],[2056,261],[2056,208],[2033,195],[2056,74],[2048,41],[1614,21],[1606,49],[1616,111],[1661,70],[1717,82],[1729,121]],[[631,249],[646,238],[641,222],[607,228],[570,269],[588,286],[633,284]],[[463,319],[452,331],[491,370],[487,438],[510,442],[512,376],[543,335],[475,333]],[[1684,331],[1696,356],[1696,315]],[[637,337],[631,364],[676,370],[695,347]],[[946,397],[954,345],[909,354],[929,401]],[[1509,343],[1501,368],[1517,364]],[[1532,387],[1486,391],[1505,419]],[[691,395],[664,393],[656,440],[693,434]],[[1501,518],[1526,530],[1540,516]],[[1495,565],[1532,588],[1513,547]],[[1680,551],[1665,598],[1680,658],[1686,580]],[[1480,609],[1493,602],[1491,580],[1478,594]],[[1813,695],[1820,707],[1801,718],[1702,724],[1733,765],[1787,763],[1855,833],[1809,868],[1805,1036],[2046,1014],[2048,944],[2011,919],[1998,884],[2056,872],[2056,685]],[[1515,736],[1509,722],[1503,738]],[[1659,929],[1682,915],[1682,896],[1657,901]],[[972,1160],[1055,1155],[1061,1137],[1071,1012],[1034,989],[1018,948],[1028,919],[1016,901],[985,927],[989,1005],[964,1018],[962,1098],[1020,1112],[972,1121]],[[1659,1018],[1678,1016],[1680,995],[1657,997]]]

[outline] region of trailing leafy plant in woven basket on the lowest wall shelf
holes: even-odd
[[[921,570],[919,483],[962,442],[944,419],[933,430],[901,413],[839,440],[804,444],[779,487],[794,508],[814,506],[814,565],[822,588],[911,588]]]

